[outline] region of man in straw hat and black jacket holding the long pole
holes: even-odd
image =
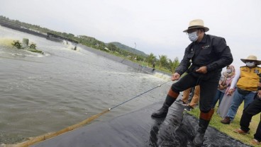
[[[177,99],[180,91],[199,85],[201,112],[199,129],[193,140],[196,146],[201,146],[203,143],[205,131],[213,115],[214,110],[211,104],[216,95],[222,68],[233,61],[231,49],[226,45],[226,40],[223,37],[206,35],[207,31],[209,28],[204,26],[201,19],[191,20],[189,28],[183,31],[188,34],[191,44],[185,49],[184,57],[172,75],[172,81],[179,81],[172,84],[160,110],[152,113],[152,117],[166,117],[169,107]],[[188,74],[180,78],[185,71]]]

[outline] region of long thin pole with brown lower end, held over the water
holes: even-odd
[[[170,80],[171,81],[171,80]],[[45,141],[46,139],[51,139],[55,136],[58,136],[60,134],[64,134],[66,133],[67,131],[72,131],[74,129],[77,129],[79,127],[82,127],[84,126],[85,124],[89,124],[91,121],[93,121],[94,119],[100,117],[101,115],[103,114],[106,114],[107,112],[110,112],[111,110],[115,109],[116,107],[120,106],[120,105],[123,105],[125,104],[126,102],[129,102],[130,100],[133,100],[135,98],[138,98],[140,95],[144,95],[145,93],[148,93],[150,92],[151,90],[154,90],[155,88],[159,88],[160,86],[170,82],[170,81],[167,81],[165,83],[162,83],[162,84],[159,84],[157,86],[155,86],[154,88],[151,88],[150,90],[146,90],[144,93],[140,93],[139,95],[136,95],[135,97],[133,98],[130,98],[124,102],[121,102],[120,104],[114,106],[114,107],[110,107],[109,109],[106,109],[104,110],[103,112],[100,112],[99,114],[94,114],[93,116],[91,117],[88,117],[87,119],[85,119],[84,121],[82,122],[79,122],[78,124],[74,124],[70,127],[67,127],[65,129],[61,129],[60,131],[56,131],[56,132],[52,132],[52,133],[48,133],[48,134],[43,134],[41,136],[36,136],[36,137],[31,137],[28,141],[23,141],[21,143],[16,143],[16,144],[7,144],[7,145],[4,145],[4,147],[28,147],[28,146],[31,146],[35,143],[39,143],[40,141]]]

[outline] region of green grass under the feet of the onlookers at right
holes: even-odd
[[[219,131],[223,132],[224,134],[231,136],[233,139],[237,139],[238,141],[242,141],[243,143],[246,143],[246,144],[252,146],[252,144],[250,144],[250,141],[254,138],[255,131],[260,122],[260,114],[256,114],[254,117],[252,117],[252,120],[250,122],[250,134],[242,135],[242,134],[237,134],[233,131],[235,129],[240,128],[240,118],[243,113],[243,103],[238,108],[238,112],[235,115],[235,119],[233,120],[233,122],[231,122],[231,124],[222,124],[220,122],[222,118],[218,114],[216,114],[216,110],[218,110],[218,107],[215,108],[215,113],[213,114],[213,117],[212,117],[209,125],[211,127],[218,129]],[[192,110],[191,112],[188,112],[188,113],[199,118],[199,113],[200,113],[199,107],[196,107],[194,110]],[[261,145],[258,145],[258,146],[261,147]]]

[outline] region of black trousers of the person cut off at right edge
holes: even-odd
[[[242,117],[240,119],[240,129],[243,131],[249,131],[249,125],[252,119],[252,116],[261,112],[261,99],[256,98],[254,101],[248,105],[243,111]],[[261,117],[261,115],[260,115]],[[259,122],[257,131],[255,132],[254,138],[257,141],[261,141],[261,122]]]

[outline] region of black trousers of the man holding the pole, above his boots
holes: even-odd
[[[220,72],[211,72],[206,74],[195,72],[188,73],[186,76],[180,78],[179,81],[173,83],[171,88],[174,92],[179,93],[187,90],[187,88],[199,85],[199,109],[201,112],[207,113],[212,108],[213,99],[216,95],[220,77]]]

